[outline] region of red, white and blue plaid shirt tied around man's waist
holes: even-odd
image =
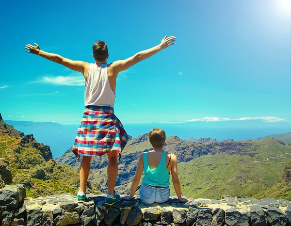
[[[128,135],[113,107],[86,106],[72,151],[77,156],[100,156],[117,151],[119,158]]]

